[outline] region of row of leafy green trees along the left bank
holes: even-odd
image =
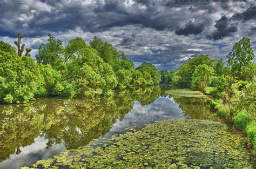
[[[97,37],[89,45],[77,37],[66,46],[51,34],[48,37],[35,59],[22,44],[20,33],[17,49],[0,41],[0,102],[22,103],[42,96],[93,98],[111,95],[117,88],[160,82],[154,65],[143,62],[135,67],[125,53]]]

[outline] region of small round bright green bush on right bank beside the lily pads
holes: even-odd
[[[246,111],[241,111],[234,118],[234,126],[238,129],[245,130],[245,127],[251,122],[251,118]]]

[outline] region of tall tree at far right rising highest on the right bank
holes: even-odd
[[[232,75],[238,79],[242,79],[244,75],[241,70],[244,69],[254,58],[250,38],[242,38],[238,43],[235,43],[232,51],[227,55],[227,63],[232,68]]]

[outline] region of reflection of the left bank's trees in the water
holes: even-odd
[[[67,149],[104,136],[116,120],[129,113],[135,101],[151,104],[161,93],[159,86],[118,90],[109,98],[39,98],[27,104],[0,105],[0,162],[19,147],[34,143],[38,136],[47,147],[64,143]]]

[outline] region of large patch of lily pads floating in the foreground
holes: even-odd
[[[245,138],[225,124],[171,119],[157,121],[139,131],[131,128],[104,139],[101,146],[65,151],[52,159],[37,161],[33,167],[252,168],[249,160]]]

